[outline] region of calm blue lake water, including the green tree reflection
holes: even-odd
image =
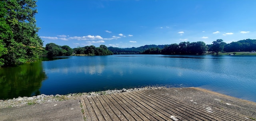
[[[0,69],[0,99],[144,86],[200,87],[256,102],[256,56],[70,56]]]

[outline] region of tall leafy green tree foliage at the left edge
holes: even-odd
[[[43,42],[37,32],[35,0],[1,0],[0,66],[36,61]]]

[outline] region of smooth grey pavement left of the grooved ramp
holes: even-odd
[[[0,121],[84,121],[84,118],[77,99],[2,108]]]

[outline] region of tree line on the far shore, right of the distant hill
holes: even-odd
[[[180,44],[171,44],[160,48],[149,48],[141,52],[141,54],[167,54],[167,55],[201,55],[208,51],[218,54],[219,52],[239,52],[239,51],[255,51],[256,40],[246,39],[238,42],[226,44],[222,39],[213,41],[212,44],[206,45],[204,42],[180,42]]]

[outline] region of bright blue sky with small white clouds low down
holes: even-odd
[[[256,0],[38,0],[44,41],[71,48],[256,39]]]

